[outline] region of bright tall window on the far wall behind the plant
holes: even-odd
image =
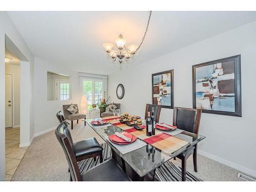
[[[88,109],[92,108],[92,104],[99,103],[103,96],[102,80],[83,80],[83,93],[87,97]]]

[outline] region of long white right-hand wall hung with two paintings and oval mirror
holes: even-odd
[[[206,139],[199,149],[203,155],[256,176],[255,31],[253,22],[141,63],[136,70],[133,66],[112,74],[109,95],[121,103],[122,112],[143,116],[145,104],[152,102],[151,74],[174,69],[174,105],[192,108],[191,66],[241,54],[242,117],[203,113],[199,134]],[[125,89],[121,100],[116,97],[118,83]],[[172,123],[172,119],[173,110],[162,109],[160,121]]]

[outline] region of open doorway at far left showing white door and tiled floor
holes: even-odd
[[[20,60],[5,50],[5,166],[11,180],[27,147],[20,145]]]

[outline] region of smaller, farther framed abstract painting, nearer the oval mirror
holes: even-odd
[[[174,70],[152,74],[152,103],[174,108]]]

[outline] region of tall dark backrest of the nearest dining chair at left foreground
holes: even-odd
[[[70,175],[73,181],[81,181],[82,176],[79,172],[79,167],[77,164],[76,156],[74,153],[74,148],[72,147],[72,143],[65,134],[67,131],[67,124],[66,122],[60,123],[56,130],[55,130],[55,135],[65,153],[66,159],[68,161],[69,165],[69,170],[70,170]]]

